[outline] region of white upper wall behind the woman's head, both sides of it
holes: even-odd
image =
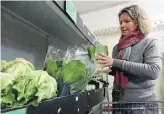
[[[118,12],[125,6],[138,4],[142,7],[152,21],[164,20],[164,1],[163,0],[137,0],[113,8],[107,8],[100,11],[80,15],[87,27],[93,32],[94,30],[118,27]]]

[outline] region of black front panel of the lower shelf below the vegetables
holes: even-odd
[[[92,107],[105,100],[107,88],[76,93],[43,101],[38,107],[1,110],[2,114],[87,114]]]

